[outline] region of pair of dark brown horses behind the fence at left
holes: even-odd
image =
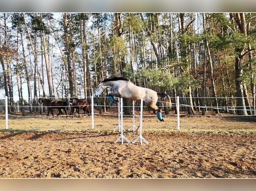
[[[79,112],[80,109],[84,110],[84,114],[85,113],[89,114],[92,112],[91,102],[88,99],[78,99],[76,97],[71,97],[69,100],[69,105],[68,105],[66,101],[61,101],[61,100],[52,101],[50,99],[40,97],[38,99],[38,103],[39,103],[39,105],[44,103],[47,106],[47,110],[48,110],[47,116],[49,116],[49,112],[51,112],[52,116],[54,116],[53,109],[58,109],[58,111],[59,111],[57,114],[57,116],[58,116],[61,113],[61,109],[63,109],[63,111],[66,114],[66,117],[68,117],[66,107],[69,105],[73,107],[72,118],[73,118],[75,112],[77,112],[78,117],[80,117],[80,112]]]

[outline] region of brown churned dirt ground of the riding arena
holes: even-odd
[[[44,115],[43,115],[44,116]],[[121,141],[116,116],[0,119],[0,178],[255,178],[255,119],[143,118],[149,144]],[[131,142],[139,132],[127,130]],[[136,125],[139,119],[136,118]]]

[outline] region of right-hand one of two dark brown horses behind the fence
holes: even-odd
[[[69,100],[69,105],[74,106],[73,113],[72,113],[72,118],[73,118],[74,113],[76,112],[76,110],[77,110],[77,113],[78,113],[78,117],[80,117],[80,113],[79,113],[80,109],[84,110],[84,115],[85,115],[85,112],[87,114],[91,113],[92,112],[92,107],[90,106],[90,104],[91,104],[91,102],[87,99],[78,99],[76,97],[71,97],[70,100]]]

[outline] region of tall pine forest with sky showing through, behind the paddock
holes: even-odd
[[[15,102],[36,106],[39,97],[90,99],[100,81],[123,76],[170,95],[173,105],[182,97],[189,114],[204,115],[198,106],[207,105],[216,113],[255,114],[255,19],[255,13],[0,13],[1,98],[8,96],[9,111]],[[105,111],[108,99],[97,101]]]

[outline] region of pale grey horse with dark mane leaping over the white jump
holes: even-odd
[[[102,94],[107,88],[114,90],[113,93],[110,93],[110,100],[113,102],[113,97],[117,96],[125,99],[130,99],[134,101],[140,101],[141,98],[144,99],[145,105],[151,107],[153,110],[157,111],[157,118],[160,121],[164,121],[162,118],[162,109],[159,108],[156,103],[158,100],[157,92],[149,88],[143,88],[134,85],[128,79],[123,77],[114,77],[110,79],[103,80],[97,87],[96,96],[98,97]]]

